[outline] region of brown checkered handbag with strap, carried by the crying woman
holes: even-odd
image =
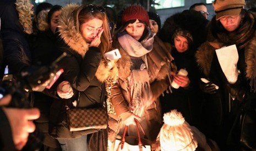
[[[81,131],[89,129],[107,128],[106,102],[104,101],[104,86],[102,86],[100,104],[102,107],[96,108],[72,108],[67,109],[67,123],[69,131]],[[79,94],[80,95],[80,94]]]

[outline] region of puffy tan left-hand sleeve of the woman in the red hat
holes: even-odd
[[[129,108],[127,106],[126,100],[123,96],[121,89],[122,88],[119,82],[117,82],[111,88],[111,102],[118,116],[120,116],[123,113],[129,112]]]

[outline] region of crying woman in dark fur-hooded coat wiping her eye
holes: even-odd
[[[66,120],[66,107],[103,106],[100,100],[104,97],[104,80],[113,71],[113,68],[110,71],[107,67],[103,57],[111,48],[105,8],[94,4],[66,5],[59,16],[57,33],[57,50],[68,54],[59,62],[59,66],[64,69],[59,79],[71,85],[74,95],[68,99],[59,96],[59,99],[53,101],[50,135],[57,138],[62,150],[106,150],[106,130],[94,130],[96,135],[91,129],[70,132]]]

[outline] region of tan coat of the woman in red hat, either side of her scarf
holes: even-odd
[[[130,56],[122,49],[119,43],[114,44],[114,47],[120,50],[122,56],[122,58],[117,62],[119,79],[111,89],[111,101],[117,114],[117,117],[114,118],[117,119],[120,118],[119,116],[121,114],[130,112],[126,98],[129,98],[127,78],[131,73],[130,67],[132,65],[132,61],[130,60]],[[169,74],[169,63],[172,57],[170,53],[168,53],[162,41],[158,37],[155,37],[153,50],[146,54],[146,58],[148,61],[150,87],[154,98],[153,100],[155,101],[145,109],[144,117],[141,117],[140,123],[144,127],[144,131],[149,140],[155,140],[161,128],[161,108],[157,98],[168,86],[167,75]],[[120,126],[121,123],[116,124],[115,122],[111,122],[109,124],[110,129],[115,131],[115,133],[111,133],[111,135],[116,135],[119,131],[116,126]],[[148,129],[145,129],[145,127]],[[109,136],[110,140],[111,138],[113,138],[113,136]]]

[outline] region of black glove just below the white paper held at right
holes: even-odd
[[[230,95],[238,101],[243,101],[243,98],[246,95],[246,91],[241,89],[237,84],[227,84],[227,90],[230,92]]]

